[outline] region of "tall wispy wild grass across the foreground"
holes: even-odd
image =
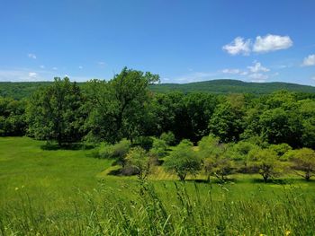
[[[286,186],[263,197],[257,188],[251,197],[232,195],[229,185],[219,194],[200,193],[174,182],[166,197],[154,185],[130,187],[129,197],[100,186],[77,192],[82,198],[64,209],[39,205],[26,192],[18,203],[0,209],[2,235],[314,235],[315,199],[300,188]],[[124,195],[125,196],[125,195]],[[84,203],[84,204],[82,204]]]

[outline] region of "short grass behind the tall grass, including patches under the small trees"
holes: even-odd
[[[44,144],[27,137],[0,138],[0,202],[16,195],[15,188],[23,186],[30,193],[42,194],[37,197],[53,197],[55,200],[64,197],[75,197],[76,189],[91,191],[98,182],[105,182],[108,187],[117,187],[124,183],[135,182],[134,177],[116,177],[107,175],[112,167],[112,160],[100,160],[93,157],[93,150],[57,150],[48,151],[40,147]],[[188,177],[193,179],[194,177]],[[203,176],[198,176],[203,179]],[[235,189],[255,190],[260,186],[260,176],[238,175],[235,179]],[[162,167],[154,170],[151,180],[163,179],[157,186],[165,183],[172,186],[175,175],[166,173]],[[100,180],[100,181],[99,181]],[[314,189],[313,182],[306,183],[293,178],[299,186]],[[201,184],[203,186],[203,184]],[[207,186],[207,185],[204,185]],[[270,188],[282,188],[280,185],[268,185]],[[36,193],[36,194],[35,194]]]

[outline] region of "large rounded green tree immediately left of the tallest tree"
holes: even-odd
[[[84,112],[83,97],[76,83],[55,78],[50,86],[35,92],[28,107],[29,134],[59,145],[79,141]]]

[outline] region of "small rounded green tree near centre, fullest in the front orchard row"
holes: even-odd
[[[174,171],[182,181],[187,174],[196,174],[201,170],[202,162],[193,151],[193,144],[183,140],[178,144],[164,163],[166,170]]]

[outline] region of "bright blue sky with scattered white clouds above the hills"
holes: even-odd
[[[0,0],[0,82],[213,79],[315,86],[313,0]]]

